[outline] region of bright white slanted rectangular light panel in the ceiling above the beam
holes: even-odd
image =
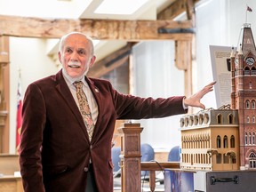
[[[104,0],[94,13],[98,14],[132,14],[148,0]]]

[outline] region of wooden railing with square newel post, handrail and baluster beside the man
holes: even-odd
[[[156,171],[180,169],[179,162],[140,162],[140,124],[123,124],[118,132],[121,136],[121,180],[122,192],[141,191],[141,171],[149,171],[149,188],[155,191]]]

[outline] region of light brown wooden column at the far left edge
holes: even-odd
[[[9,36],[0,36],[0,153],[9,153]]]

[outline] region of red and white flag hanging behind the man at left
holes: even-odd
[[[22,99],[21,99],[21,87],[20,87],[20,79],[18,82],[18,92],[17,92],[17,116],[16,116],[16,152],[20,153],[20,130],[22,124]]]

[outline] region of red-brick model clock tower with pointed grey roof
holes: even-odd
[[[231,53],[231,108],[238,110],[240,169],[256,169],[256,49],[250,24]],[[237,159],[238,160],[238,159]]]

